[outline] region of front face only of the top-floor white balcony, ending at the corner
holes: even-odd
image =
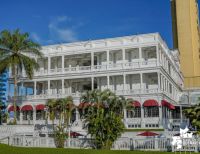
[[[156,46],[108,50],[38,59],[35,77],[120,69],[140,69],[159,65]],[[25,77],[25,73],[22,72]]]

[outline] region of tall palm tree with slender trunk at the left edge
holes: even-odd
[[[12,32],[3,30],[0,32],[0,74],[11,68],[14,78],[14,121],[16,122],[17,83],[22,70],[29,79],[32,79],[34,70],[39,68],[35,58],[42,58],[39,51],[40,45],[29,38],[28,33],[22,33],[19,29]]]

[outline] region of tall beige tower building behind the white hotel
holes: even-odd
[[[171,0],[173,43],[180,51],[185,88],[200,87],[199,12],[197,0]]]

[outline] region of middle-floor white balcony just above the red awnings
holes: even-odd
[[[127,97],[162,93],[172,100],[177,100],[178,91],[164,80],[161,82],[163,77],[160,72],[146,72],[24,81],[21,82],[20,95],[22,97],[20,100],[46,100],[66,96],[80,98],[82,93],[93,89],[110,89],[117,95]]]

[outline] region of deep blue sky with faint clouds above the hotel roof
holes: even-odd
[[[42,45],[159,32],[172,47],[170,0],[1,0],[0,30]]]

